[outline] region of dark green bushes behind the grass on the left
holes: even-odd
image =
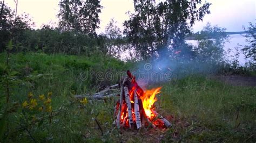
[[[41,30],[24,30],[12,45],[12,52],[43,52],[92,55],[96,52],[106,53],[104,39],[89,38],[75,32],[60,32],[57,28],[44,25]],[[77,41],[77,42],[74,42]],[[6,43],[8,46],[8,43]],[[100,47],[100,48],[99,48]]]

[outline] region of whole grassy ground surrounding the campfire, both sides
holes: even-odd
[[[5,55],[0,55],[0,135],[3,141],[256,140],[255,87],[234,87],[198,75],[154,84],[151,87],[163,87],[157,109],[173,126],[167,130],[118,131],[112,127],[115,98],[80,102],[72,95],[96,92],[118,82],[118,79],[97,81],[96,75],[90,76],[92,80],[81,80],[81,72],[111,71],[116,74],[133,69],[136,63],[124,63],[104,55],[20,53],[11,55],[9,67],[5,67]],[[6,79],[10,87],[8,106],[5,104]],[[28,97],[29,92],[32,97]],[[52,95],[48,96],[50,92]],[[39,97],[42,94],[44,99]],[[31,99],[36,99],[36,106],[32,106]],[[46,102],[47,99],[50,102]],[[24,106],[25,101],[28,106]],[[40,107],[43,110],[39,110]]]

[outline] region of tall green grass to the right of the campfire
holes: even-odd
[[[197,141],[255,140],[256,88],[234,87],[200,76],[188,76],[163,86],[164,113],[188,122],[181,131]],[[175,128],[175,127],[174,127]],[[177,127],[178,128],[178,127]],[[183,136],[181,135],[181,136]]]

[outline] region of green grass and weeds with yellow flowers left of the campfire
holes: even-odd
[[[0,100],[0,119],[3,125],[0,128],[3,131],[0,132],[3,137],[1,141],[112,140],[111,138],[115,136],[113,132],[116,132],[110,130],[112,106],[115,101],[110,100],[106,104],[93,101],[82,105],[85,102],[73,99],[72,95],[90,94],[120,80],[114,78],[113,81],[107,79],[97,81],[95,74],[83,80],[80,73],[87,72],[86,74],[89,75],[97,71],[103,73],[112,71],[115,74],[117,71],[130,69],[130,63],[103,54],[68,56],[18,53],[12,54],[10,59],[9,67],[6,67],[2,64],[6,60],[5,54],[2,53],[0,56],[0,93],[4,95],[6,77],[10,81],[11,93],[11,104],[7,109],[8,118],[4,110],[5,98],[2,97]],[[52,91],[52,96],[50,104],[46,105],[49,91]],[[33,96],[28,97],[29,92],[32,92]],[[44,99],[42,94],[45,95]],[[49,112],[50,106],[52,112]],[[104,127],[102,137],[100,131],[95,128],[97,124],[92,118],[98,119]]]

